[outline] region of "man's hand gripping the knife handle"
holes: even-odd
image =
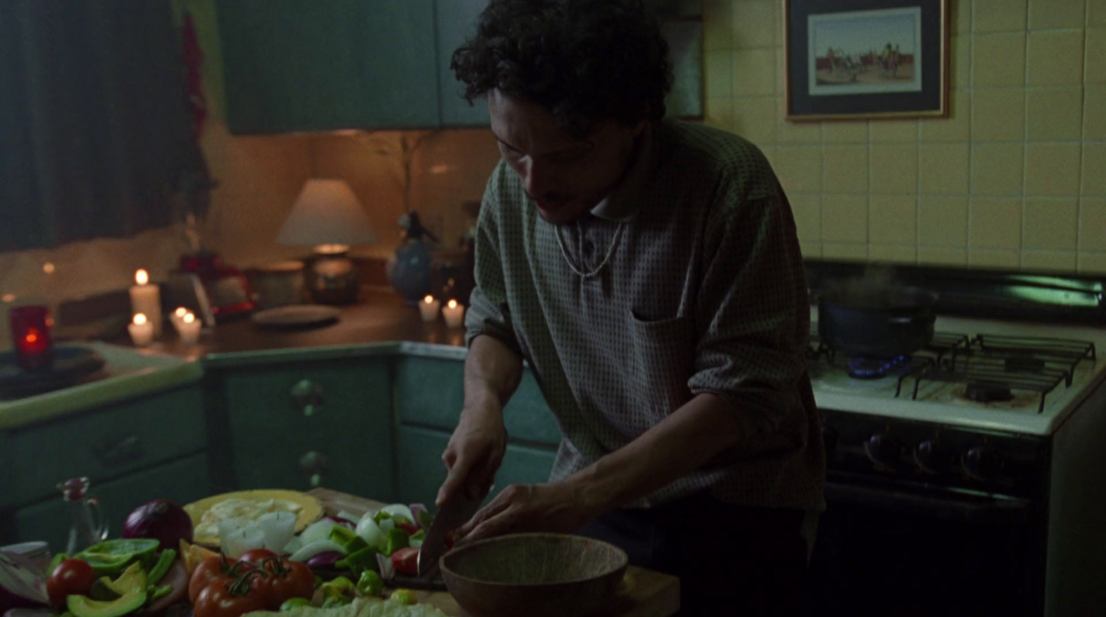
[[[502,409],[473,407],[462,410],[457,429],[441,454],[449,473],[438,489],[435,504],[440,508],[458,490],[463,490],[469,499],[483,499],[491,490],[505,451],[507,427]]]

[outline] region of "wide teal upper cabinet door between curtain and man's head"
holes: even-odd
[[[434,0],[220,0],[232,133],[438,125]]]

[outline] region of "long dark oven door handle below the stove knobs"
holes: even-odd
[[[826,482],[825,493],[830,509],[833,509],[834,502],[839,502],[969,523],[1023,520],[1031,508],[1029,500],[1016,498],[919,494],[887,487],[863,487],[833,481]]]

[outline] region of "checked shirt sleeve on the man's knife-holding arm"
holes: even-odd
[[[499,218],[502,205],[499,199],[499,185],[502,172],[500,165],[489,178],[477,220],[473,271],[476,286],[465,313],[465,343],[467,346],[471,345],[473,338],[487,334],[502,341],[521,356],[519,341],[511,325],[503,261],[499,254]]]

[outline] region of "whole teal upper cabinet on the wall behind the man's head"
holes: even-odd
[[[488,0],[217,0],[231,133],[486,127],[449,69]],[[698,0],[656,0],[669,114],[702,116]]]

